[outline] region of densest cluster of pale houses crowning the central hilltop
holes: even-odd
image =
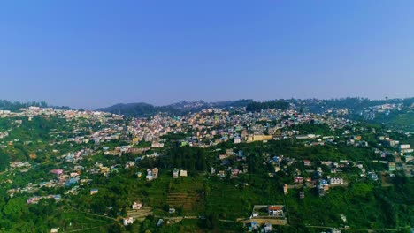
[[[283,119],[283,120],[282,120]],[[265,121],[280,122],[275,125],[262,124]],[[187,133],[181,145],[191,147],[211,147],[227,140],[235,144],[242,142],[267,141],[272,139],[312,139],[311,135],[303,137],[300,132],[289,130],[295,124],[328,124],[333,130],[352,124],[342,118],[327,117],[325,114],[300,114],[295,110],[266,109],[258,113],[230,114],[222,109],[203,109],[186,116],[157,115],[150,119],[136,119],[127,132],[134,135],[133,143],[151,142],[151,147],[164,147],[167,133]],[[323,144],[322,141],[319,142]]]

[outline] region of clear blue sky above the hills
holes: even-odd
[[[0,99],[414,96],[414,1],[2,1]]]

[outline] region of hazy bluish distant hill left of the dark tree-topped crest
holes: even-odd
[[[145,102],[137,103],[119,103],[108,108],[96,109],[98,111],[111,112],[114,114],[121,114],[125,116],[150,116],[157,113],[166,113],[171,115],[184,115],[189,112],[196,112],[206,108],[239,108],[248,106],[252,100],[238,100],[238,101],[180,101],[165,106],[154,106]]]

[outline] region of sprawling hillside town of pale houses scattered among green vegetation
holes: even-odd
[[[336,157],[333,154],[310,154],[306,157],[291,153],[260,153],[260,160],[267,168],[265,177],[269,180],[283,177],[280,180],[282,184],[273,192],[285,196],[290,195],[290,192],[297,192],[299,200],[307,199],[309,191],[324,198],[332,190],[347,188],[358,182],[381,182],[382,185],[389,185],[395,172],[403,172],[407,177],[414,175],[411,145],[390,136],[410,139],[411,132],[379,131],[378,128],[340,117],[344,112],[348,110],[328,109],[324,114],[300,113],[291,106],[287,110],[264,109],[260,112],[247,112],[243,108],[203,109],[184,116],[158,114],[146,118],[132,118],[100,111],[39,107],[19,109],[19,112],[2,110],[0,118],[7,121],[9,128],[0,132],[0,147],[4,150],[15,147],[44,147],[27,157],[12,158],[3,173],[6,179],[0,185],[6,188],[9,198],[25,196],[28,205],[38,205],[41,199],[61,202],[87,193],[93,198],[100,193],[100,189],[94,186],[97,184],[96,179],[110,178],[119,172],[124,173],[124,170],[134,170],[134,177],[145,183],[157,183],[157,179],[164,179],[165,174],[171,179],[188,179],[195,172],[194,169],[143,165],[143,162],[170,156],[172,147],[198,147],[211,151],[212,157],[208,162],[211,167],[205,169],[205,176],[217,177],[222,182],[227,179],[239,180],[244,179],[240,177],[249,176],[252,170],[257,170],[252,167],[256,165],[249,159],[251,151],[243,148],[250,147],[249,145],[271,147],[270,145],[278,142],[296,145],[295,147],[303,148],[303,151],[323,147],[349,147],[370,154],[369,158],[356,156],[353,159],[346,154],[338,154]],[[51,128],[47,132],[48,141],[13,137],[13,131],[38,119],[59,121],[56,124],[58,128]],[[66,125],[61,125],[62,123]],[[223,149],[220,145],[230,146]],[[45,161],[41,159],[42,154],[49,154],[48,160],[53,162],[53,166],[45,165]],[[331,157],[331,160],[324,159],[327,157]],[[32,174],[36,169],[46,171],[41,177],[25,177],[25,174]],[[17,177],[25,177],[25,182],[14,184]],[[252,184],[245,182],[237,185]],[[269,216],[276,217],[274,221],[260,218],[260,211],[253,210],[245,213],[251,214],[253,218],[241,222],[249,226],[250,231],[262,226],[265,232],[272,231],[272,224],[287,225],[289,220],[284,211],[288,209],[272,206],[274,204],[283,203],[255,207],[266,209]],[[128,205],[131,205],[127,207],[131,211],[141,211],[141,207],[154,208],[150,203],[140,200]],[[175,209],[178,206],[170,206],[167,215],[177,215]],[[110,214],[112,208],[104,206],[106,211],[101,214]],[[85,211],[89,213],[93,210]],[[124,226],[133,224],[138,219],[142,221],[151,212],[140,217],[134,216],[134,212],[127,213],[129,214],[115,214],[122,219]],[[162,222],[164,221],[158,221],[159,226]],[[338,230],[333,228],[332,232],[340,232]]]

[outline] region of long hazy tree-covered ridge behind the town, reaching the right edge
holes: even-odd
[[[206,108],[240,108],[246,107],[247,111],[256,112],[262,109],[288,109],[292,104],[295,109],[306,109],[314,113],[322,113],[330,108],[347,108],[352,114],[359,114],[362,110],[385,103],[403,103],[404,106],[410,106],[414,103],[414,98],[408,99],[389,99],[389,100],[370,100],[360,97],[347,97],[341,99],[288,99],[288,100],[274,100],[274,101],[253,101],[253,100],[238,100],[238,101],[180,101],[165,106],[154,106],[149,103],[119,103],[111,107],[96,109],[104,112],[111,112],[125,116],[150,116],[157,113],[165,113],[175,116],[185,115],[189,112],[196,112]]]

